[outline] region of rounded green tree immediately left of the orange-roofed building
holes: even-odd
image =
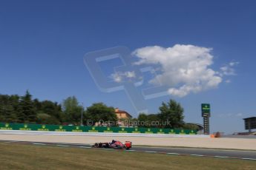
[[[92,106],[89,106],[86,111],[88,118],[93,120],[93,124],[103,121],[112,121],[116,122],[116,114],[114,107],[106,106],[104,103],[93,103]]]

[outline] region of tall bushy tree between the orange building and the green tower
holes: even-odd
[[[165,127],[180,128],[183,126],[183,112],[184,109],[174,100],[170,100],[168,103],[162,103],[160,106],[160,120]]]

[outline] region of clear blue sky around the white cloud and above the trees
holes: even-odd
[[[200,103],[211,103],[211,132],[244,131],[256,114],[255,1],[0,1],[0,93],[62,102],[75,95],[85,106],[102,101],[136,110],[124,91],[100,91],[83,63],[86,53],[125,46],[176,44],[211,48],[215,73],[239,62],[232,76],[202,92],[145,101],[158,112],[170,98],[187,122],[202,123]],[[104,67],[118,65],[106,63]],[[150,78],[145,77],[145,82]],[[226,83],[226,81],[230,81]]]

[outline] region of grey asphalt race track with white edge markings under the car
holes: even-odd
[[[43,143],[43,142],[24,142],[24,141],[16,141],[16,140],[0,140],[0,142],[91,149],[91,145],[79,144],[79,143]],[[219,157],[219,158],[226,158],[226,159],[256,160],[256,151],[231,150],[231,149],[191,149],[191,148],[133,146],[130,150],[124,150],[124,152],[147,152],[147,153],[155,153],[155,154],[174,154],[174,155],[188,155],[188,156],[196,156],[196,157]]]

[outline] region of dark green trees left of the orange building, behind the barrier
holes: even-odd
[[[24,96],[0,95],[0,122],[79,125],[81,120],[86,125],[87,120],[116,121],[117,118],[114,107],[93,103],[85,110],[74,96],[59,104],[33,99],[28,91]]]

